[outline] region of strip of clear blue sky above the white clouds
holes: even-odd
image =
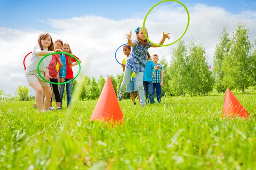
[[[113,20],[134,17],[145,13],[160,0],[0,0],[0,27],[15,29],[50,29],[38,21],[99,15]],[[181,0],[186,6],[204,3],[219,6],[232,13],[256,10],[256,0]],[[160,5],[169,5],[171,2]]]

